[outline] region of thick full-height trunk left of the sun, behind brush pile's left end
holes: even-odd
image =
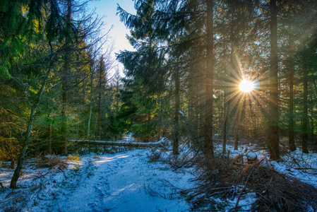
[[[205,129],[204,153],[213,156],[213,69],[214,69],[214,39],[213,39],[213,0],[207,0],[207,67],[205,90]]]

